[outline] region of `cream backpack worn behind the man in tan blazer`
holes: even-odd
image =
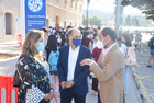
[[[125,65],[127,66],[134,66],[136,65],[135,52],[133,47],[128,47],[128,53],[125,57]]]

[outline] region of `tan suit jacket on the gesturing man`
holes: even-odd
[[[124,54],[116,44],[105,57],[100,54],[98,64],[91,65],[90,70],[99,80],[100,99],[102,103],[125,103],[124,98]],[[106,69],[102,69],[106,67]]]

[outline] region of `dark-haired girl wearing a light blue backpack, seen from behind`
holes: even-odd
[[[56,92],[56,96],[58,95],[58,70],[57,70],[57,60],[59,56],[59,47],[57,43],[57,38],[55,35],[50,35],[46,50],[48,53],[48,64],[50,64],[50,73],[53,80],[54,90]]]

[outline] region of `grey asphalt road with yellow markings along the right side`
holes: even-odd
[[[150,47],[147,43],[152,35],[142,34],[141,49],[143,53],[136,52],[138,65],[135,66],[136,71],[139,72],[140,79],[142,80],[148,95],[151,96],[154,103],[154,61],[151,60],[153,68],[147,68],[147,60],[150,57]]]

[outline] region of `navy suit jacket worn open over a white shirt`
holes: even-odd
[[[66,45],[61,48],[57,64],[59,83],[62,83],[63,81],[67,81],[68,56],[69,56],[69,45]],[[80,45],[73,80],[75,83],[76,93],[78,95],[85,95],[88,93],[87,77],[89,76],[90,72],[89,66],[80,66],[80,61],[86,58],[91,58],[91,52],[87,47]],[[63,92],[62,87],[59,87],[59,91]]]

